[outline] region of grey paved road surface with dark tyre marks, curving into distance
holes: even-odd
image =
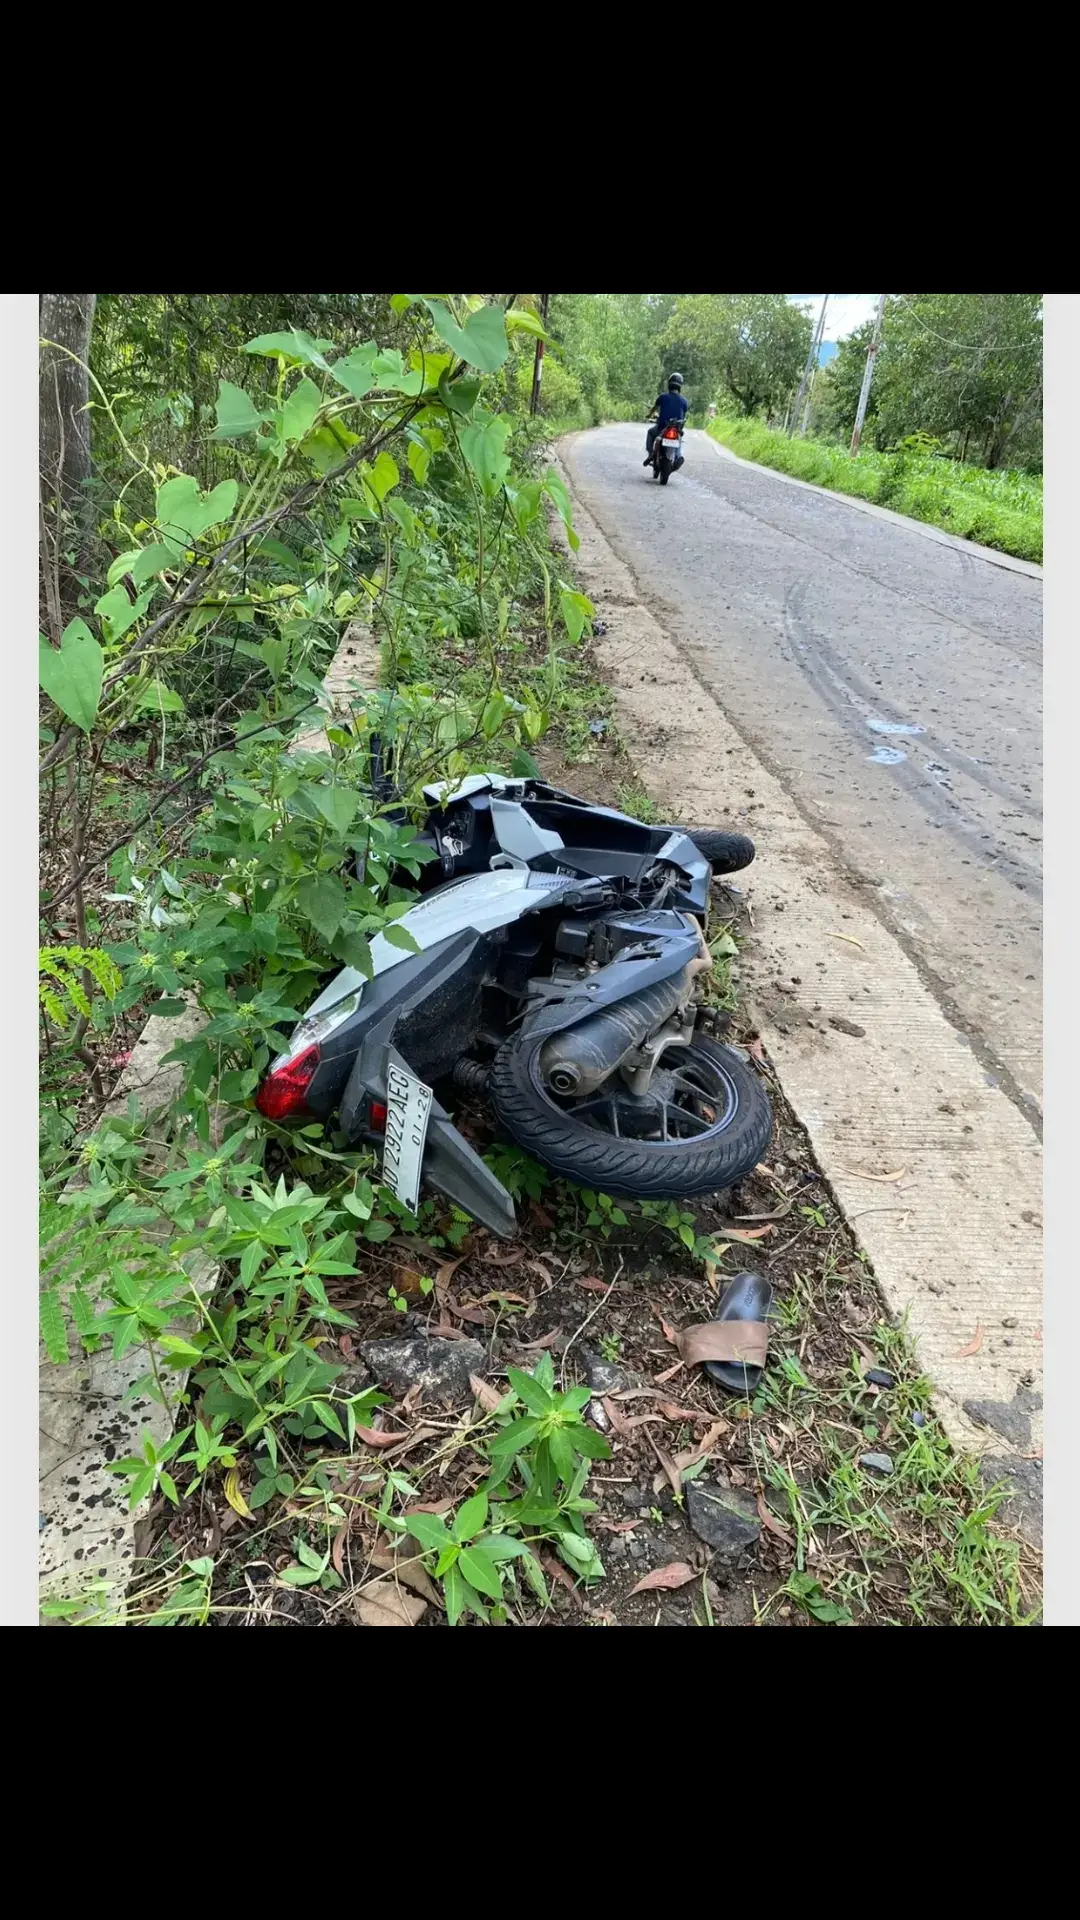
[[[563,447],[698,678],[1038,1117],[1042,580],[724,459],[703,434],[669,488],[642,455],[638,426]],[[736,808],[753,824],[753,797],[732,793]]]

